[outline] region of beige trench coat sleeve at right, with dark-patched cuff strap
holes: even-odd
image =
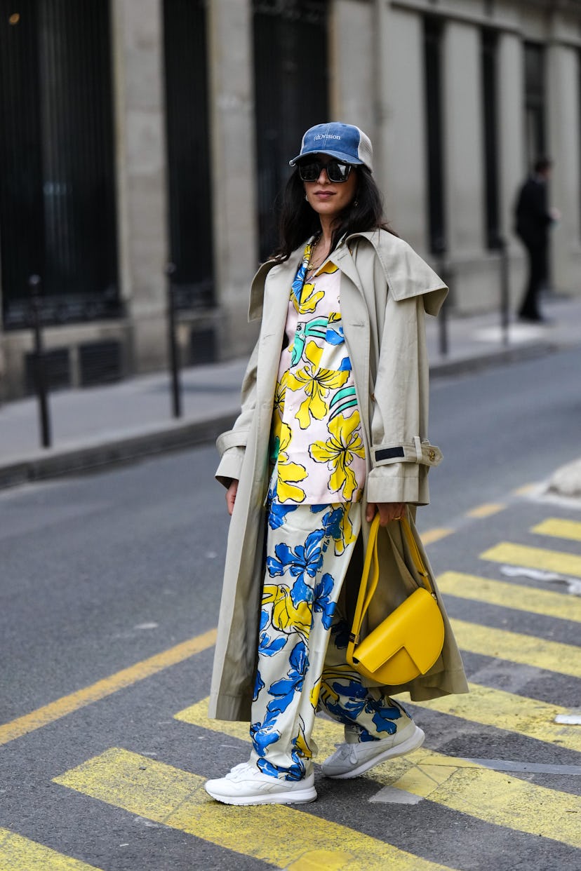
[[[372,388],[368,502],[429,503],[428,469],[442,459],[429,444],[428,356],[422,295],[388,294]]]

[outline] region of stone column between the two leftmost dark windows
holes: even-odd
[[[133,368],[166,364],[166,137],[162,0],[111,3],[121,292]]]

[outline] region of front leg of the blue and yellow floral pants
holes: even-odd
[[[349,512],[350,522],[341,525],[338,515]],[[317,679],[360,525],[358,504],[320,505],[314,512],[269,503],[250,733],[257,766],[274,777],[300,780],[310,764]],[[347,528],[350,540],[337,557],[334,536]]]

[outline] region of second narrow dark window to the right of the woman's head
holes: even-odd
[[[486,192],[486,244],[496,248],[500,239],[497,142],[497,45],[495,30],[483,30],[484,190]]]

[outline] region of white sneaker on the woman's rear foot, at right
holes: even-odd
[[[419,726],[409,723],[388,738],[379,741],[364,741],[362,744],[341,744],[322,764],[322,772],[327,777],[348,780],[359,777],[369,768],[395,756],[404,756],[417,750],[426,736]]]

